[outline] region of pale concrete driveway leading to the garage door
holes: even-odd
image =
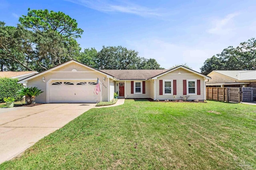
[[[0,108],[0,163],[60,129],[95,104],[43,104]]]

